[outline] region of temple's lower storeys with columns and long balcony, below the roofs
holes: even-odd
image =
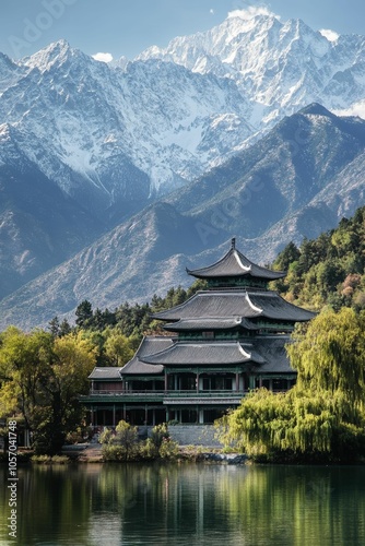
[[[120,390],[115,383],[94,383],[82,397],[93,427],[115,427],[119,420],[136,426],[161,423],[212,424],[228,410],[237,407],[249,390],[264,387],[283,392],[295,383],[295,373],[270,377],[247,373],[174,373],[168,376],[170,390],[158,390],[158,381],[129,381]],[[96,387],[96,388],[95,388]],[[101,388],[102,387],[102,388]],[[176,388],[176,389],[175,389]],[[113,389],[113,390],[109,390]]]

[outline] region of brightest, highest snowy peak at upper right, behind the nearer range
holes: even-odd
[[[318,102],[331,110],[364,99],[365,37],[330,41],[301,20],[275,15],[229,16],[205,32],[173,39],[141,60],[176,62],[201,74],[234,80],[249,99],[247,120],[257,130]]]

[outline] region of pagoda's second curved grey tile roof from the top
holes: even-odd
[[[204,290],[198,292],[184,304],[154,313],[161,320],[180,319],[269,319],[306,321],[315,313],[296,307],[271,290]]]

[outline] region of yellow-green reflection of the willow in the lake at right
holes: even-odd
[[[355,467],[257,466],[245,476],[223,475],[217,502],[245,545],[360,544],[362,479],[364,470]]]

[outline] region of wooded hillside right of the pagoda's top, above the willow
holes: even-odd
[[[290,242],[273,269],[287,271],[274,284],[289,301],[316,310],[352,307],[365,309],[365,207],[338,228],[317,239],[304,239],[299,248]]]

